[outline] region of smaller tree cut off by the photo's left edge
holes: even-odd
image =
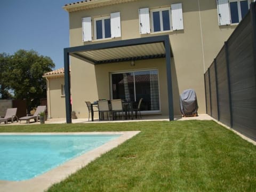
[[[4,77],[4,72],[10,64],[10,55],[6,53],[0,53],[0,98],[11,99],[12,95],[9,93],[9,85]]]

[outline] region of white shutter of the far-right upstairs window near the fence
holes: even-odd
[[[230,25],[228,0],[217,0],[219,25]]]

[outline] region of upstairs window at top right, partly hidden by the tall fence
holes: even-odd
[[[249,1],[241,1],[241,0],[230,0],[229,7],[230,7],[230,18],[231,23],[238,23],[240,22],[246,13],[249,11]]]

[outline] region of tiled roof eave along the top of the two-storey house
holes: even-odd
[[[62,8],[68,12],[75,12],[86,9],[93,9],[96,7],[115,5],[119,3],[133,2],[138,0],[85,0],[75,3],[69,3],[63,6]]]

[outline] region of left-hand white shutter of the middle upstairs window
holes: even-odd
[[[150,33],[149,9],[139,9],[140,34]]]

